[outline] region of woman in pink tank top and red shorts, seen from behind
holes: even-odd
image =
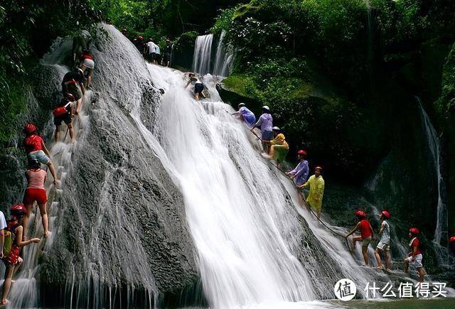
[[[48,197],[45,193],[44,183],[48,172],[41,168],[41,163],[33,159],[28,163],[26,170],[27,188],[23,196],[23,205],[26,207],[26,215],[23,217],[23,239],[26,239],[28,233],[28,220],[34,202],[38,204],[41,213],[41,223],[43,224],[44,237],[49,236],[48,230],[48,213],[46,212],[46,202]]]

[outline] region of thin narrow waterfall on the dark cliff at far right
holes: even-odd
[[[447,229],[448,229],[448,218],[447,218],[447,206],[444,201],[445,197],[445,185],[444,179],[441,175],[441,156],[439,153],[439,139],[437,137],[436,130],[432,125],[427,112],[422,107],[419,97],[416,97],[417,103],[419,104],[420,117],[422,119],[422,126],[424,128],[425,135],[427,136],[428,149],[432,154],[434,170],[437,175],[438,182],[438,204],[437,204],[437,222],[436,229],[434,230],[434,242],[437,245],[445,245],[447,243]]]

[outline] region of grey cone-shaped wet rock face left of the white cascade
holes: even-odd
[[[174,296],[198,283],[183,198],[134,118],[151,129],[161,95],[134,45],[113,27],[104,31],[108,36],[92,46],[93,92],[56,199],[60,210],[53,245],[42,257],[41,287],[44,293],[60,288],[62,300],[51,301],[60,305],[64,298],[70,305],[72,294],[73,305],[95,295],[102,306],[119,298],[111,289],[177,303]],[[53,53],[68,53],[64,45]],[[38,80],[58,80],[45,82],[36,96],[49,111],[63,75],[41,69]]]

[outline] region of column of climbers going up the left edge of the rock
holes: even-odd
[[[95,68],[95,61],[90,55],[88,38],[90,33],[82,31],[80,35],[73,38],[73,48],[71,50],[72,60],[75,70],[68,72],[61,82],[63,98],[53,109],[53,122],[55,124],[55,142],[60,141],[60,125],[62,121],[68,126],[70,139],[75,141],[75,133],[72,125],[73,117],[82,110],[83,96],[86,89],[90,89],[92,82],[92,71]],[[77,59],[79,61],[77,62]],[[86,75],[85,75],[86,73]],[[6,222],[3,212],[0,212],[0,258],[6,265],[5,281],[1,304],[8,303],[6,297],[11,288],[12,277],[19,266],[23,263],[20,256],[21,248],[31,243],[38,243],[39,238],[28,240],[28,222],[31,215],[33,204],[36,202],[41,213],[41,223],[43,224],[43,237],[48,238],[48,215],[46,205],[48,197],[45,190],[45,178],[47,166],[53,176],[53,183],[58,186],[60,180],[57,177],[55,167],[50,160],[50,152],[45,146],[43,138],[38,134],[35,124],[28,122],[23,128],[25,139],[23,145],[26,150],[28,168],[25,176],[27,187],[23,196],[23,204],[16,204],[11,207],[11,219]]]

